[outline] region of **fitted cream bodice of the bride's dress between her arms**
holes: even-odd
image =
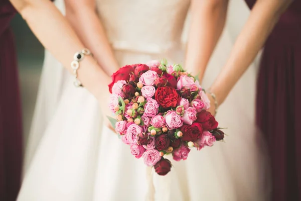
[[[190,0],[97,0],[114,49],[162,52],[180,44]]]

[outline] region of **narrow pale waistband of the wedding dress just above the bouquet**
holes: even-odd
[[[111,42],[111,46],[113,50],[143,54],[165,54],[178,48],[181,49],[180,42],[170,42],[159,45],[147,42],[113,41]]]

